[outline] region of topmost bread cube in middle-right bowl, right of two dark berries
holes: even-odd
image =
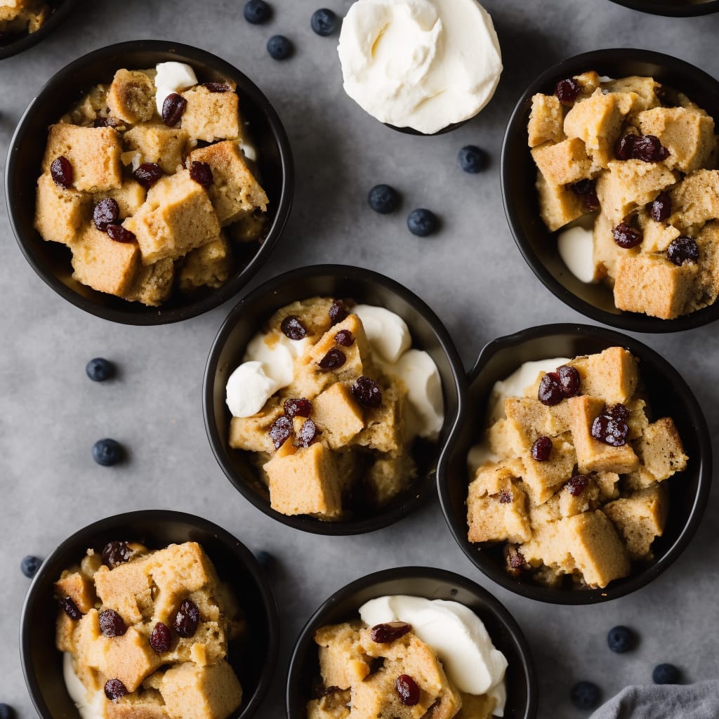
[[[579,372],[583,395],[602,398],[610,405],[628,402],[639,381],[636,359],[623,347],[608,347],[567,364]]]

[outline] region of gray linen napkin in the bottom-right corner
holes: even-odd
[[[590,719],[718,719],[719,681],[626,687]]]

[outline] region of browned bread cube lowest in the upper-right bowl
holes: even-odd
[[[699,268],[677,267],[665,255],[628,255],[614,267],[614,304],[620,310],[674,319],[687,312]]]

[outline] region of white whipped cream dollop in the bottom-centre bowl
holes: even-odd
[[[359,616],[370,626],[393,621],[411,624],[416,636],[436,651],[459,691],[495,697],[494,713],[504,715],[507,659],[470,608],[441,599],[393,595],[363,604]]]

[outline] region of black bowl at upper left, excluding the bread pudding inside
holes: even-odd
[[[96,292],[72,278],[70,251],[57,242],[45,242],[32,226],[35,183],[47,142],[47,127],[99,82],[111,81],[119,68],[151,68],[175,60],[193,67],[201,82],[229,78],[237,83],[239,107],[249,123],[257,147],[262,186],[270,203],[267,238],[249,257],[238,257],[240,269],[217,290],[203,288],[191,296],[173,292],[162,307],[146,307]],[[164,40],[134,40],[102,47],[56,73],[24,112],[14,137],[6,168],[6,198],[10,221],[20,249],[35,272],[73,305],[104,319],[124,324],[168,324],[211,310],[232,298],[257,273],[272,252],[287,221],[292,203],[294,170],[287,135],[278,115],[259,88],[232,65],[196,47]],[[253,245],[252,247],[255,247]]]

